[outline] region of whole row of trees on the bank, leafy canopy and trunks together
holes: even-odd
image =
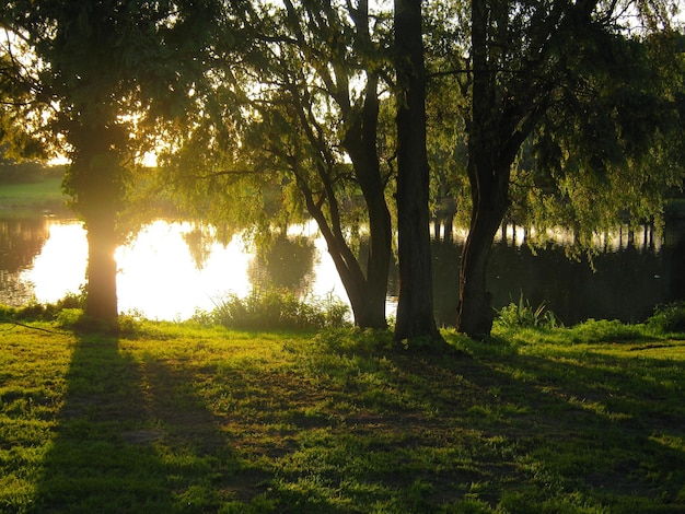
[[[117,214],[156,149],[163,184],[227,234],[313,218],[361,326],[385,327],[396,214],[400,303],[416,306],[398,311],[400,339],[437,336],[429,206],[465,212],[457,328],[486,336],[485,271],[507,217],[539,234],[564,226],[587,248],[619,220],[659,222],[665,187],[682,187],[676,9],[12,0],[0,11],[0,138],[16,155],[70,157],[96,317],[116,316]]]

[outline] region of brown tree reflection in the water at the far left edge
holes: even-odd
[[[33,284],[20,280],[49,235],[43,217],[0,220],[0,303],[21,305],[33,295]]]

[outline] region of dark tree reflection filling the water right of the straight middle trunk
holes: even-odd
[[[502,240],[490,257],[487,288],[492,306],[501,308],[524,297],[534,306],[545,303],[567,325],[588,318],[640,322],[663,302],[685,299],[683,249],[676,237],[660,248],[635,241],[605,248],[593,256],[571,260],[566,249],[549,244],[532,252],[529,246]],[[462,245],[433,241],[436,317],[453,325],[458,302],[458,266]],[[594,266],[594,270],[592,267]]]

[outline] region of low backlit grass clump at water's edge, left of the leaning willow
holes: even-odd
[[[214,300],[210,313],[196,313],[194,320],[239,330],[274,330],[345,327],[347,304],[328,295],[298,297],[286,289],[253,290],[245,297],[229,294]]]

